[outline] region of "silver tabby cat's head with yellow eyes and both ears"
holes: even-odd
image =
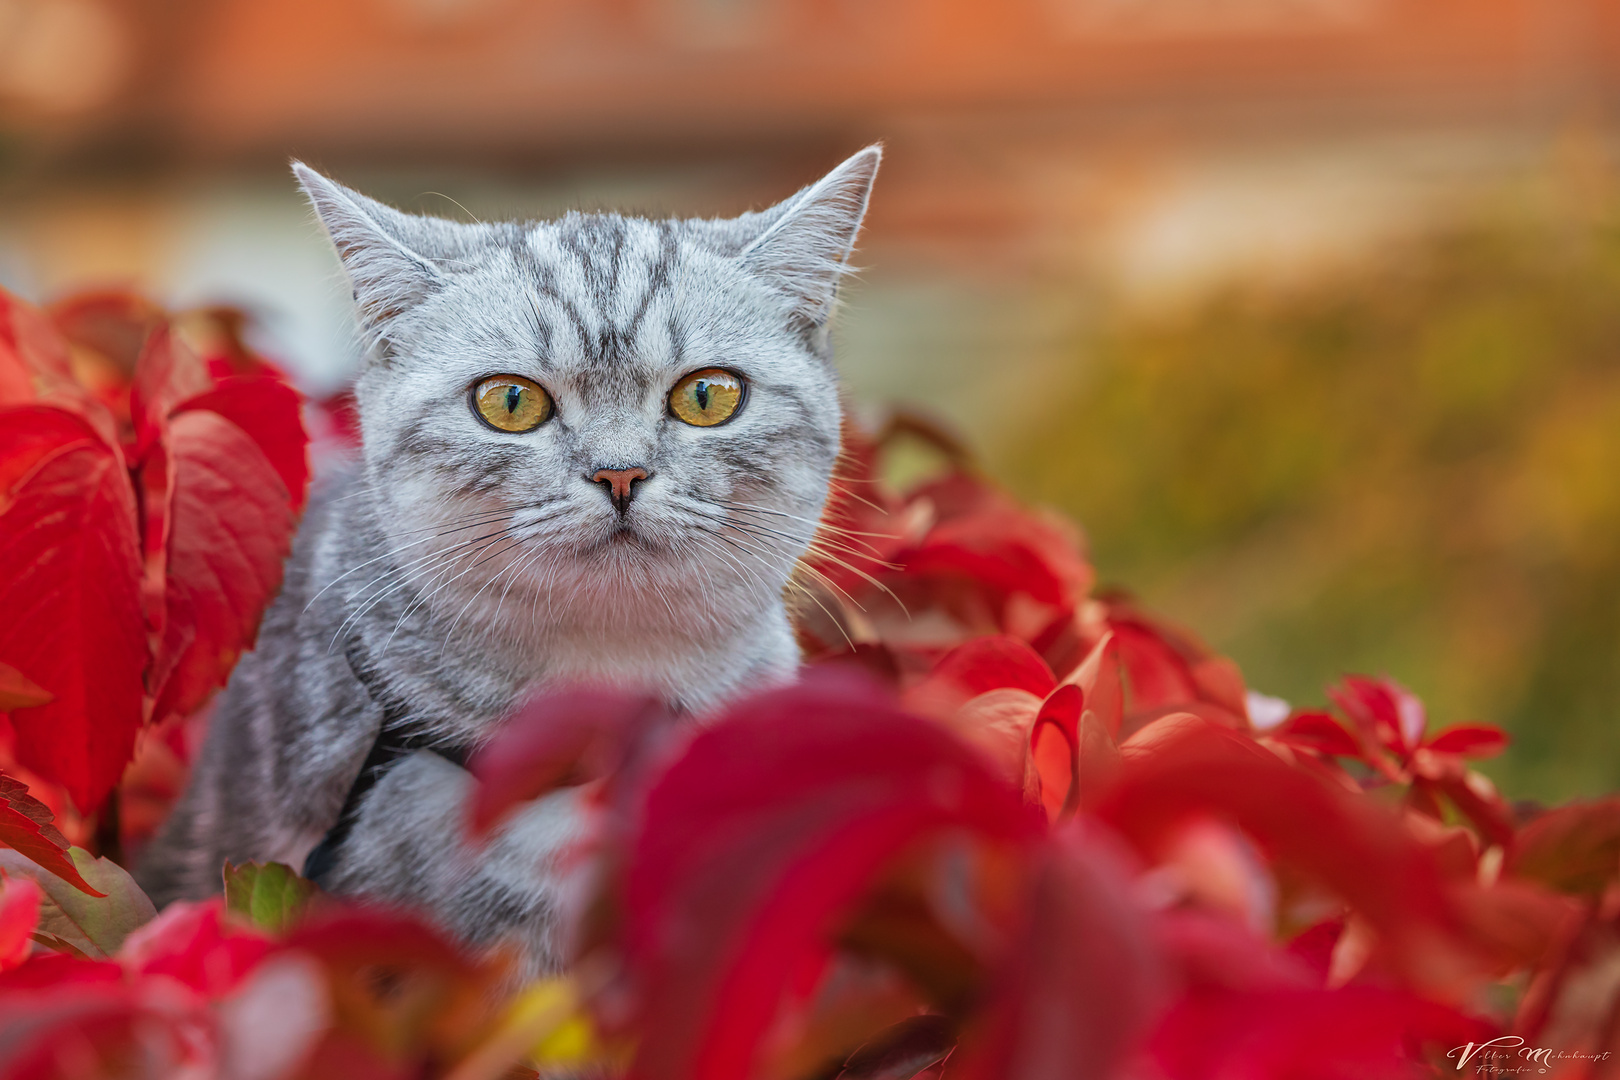
[[[838,457],[828,319],[878,159],[734,219],[489,225],[295,164],[353,285],[392,560],[475,619],[701,633],[779,604]]]

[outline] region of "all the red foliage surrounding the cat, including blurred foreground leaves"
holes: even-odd
[[[0,602],[23,612],[0,753],[28,784],[0,776],[0,844],[89,891],[52,782],[94,810],[165,722],[125,782],[152,824],[279,585],[305,437],[228,314],[207,361],[128,295],[0,316]],[[850,434],[799,683],[701,724],[552,690],[475,756],[473,842],[561,787],[588,811],[562,989],[514,997],[499,949],[308,900],[287,868],[232,868],[224,904],[110,962],[60,955],[40,942],[79,897],[13,876],[0,1072],[492,1078],[569,1017],[646,1080],[1359,1080],[1492,1040],[1588,1077],[1620,1052],[1620,801],[1513,813],[1469,767],[1502,732],[1430,733],[1387,678],[1251,717],[1231,661],[1092,594],[1068,525],[938,431],[889,434],[953,465],[896,494]]]

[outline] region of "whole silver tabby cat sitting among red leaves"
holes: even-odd
[[[274,860],[561,965],[575,797],[471,848],[462,764],[548,687],[701,716],[794,678],[784,588],[839,453],[829,319],[880,157],[734,219],[488,225],[293,162],[353,287],[360,455],[139,863],[157,904]]]

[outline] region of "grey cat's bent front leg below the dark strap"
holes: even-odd
[[[473,947],[517,946],[525,978],[562,965],[567,855],[583,834],[578,792],[518,810],[484,845],[467,839],[467,769],[418,750],[376,784],[322,884],[420,908]]]

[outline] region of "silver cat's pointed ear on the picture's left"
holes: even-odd
[[[309,198],[316,217],[337,248],[337,257],[355,290],[355,308],[369,332],[381,329],[403,311],[444,287],[446,272],[436,266],[433,227],[450,222],[402,214],[327,180],[303,162],[293,162],[298,186]]]

